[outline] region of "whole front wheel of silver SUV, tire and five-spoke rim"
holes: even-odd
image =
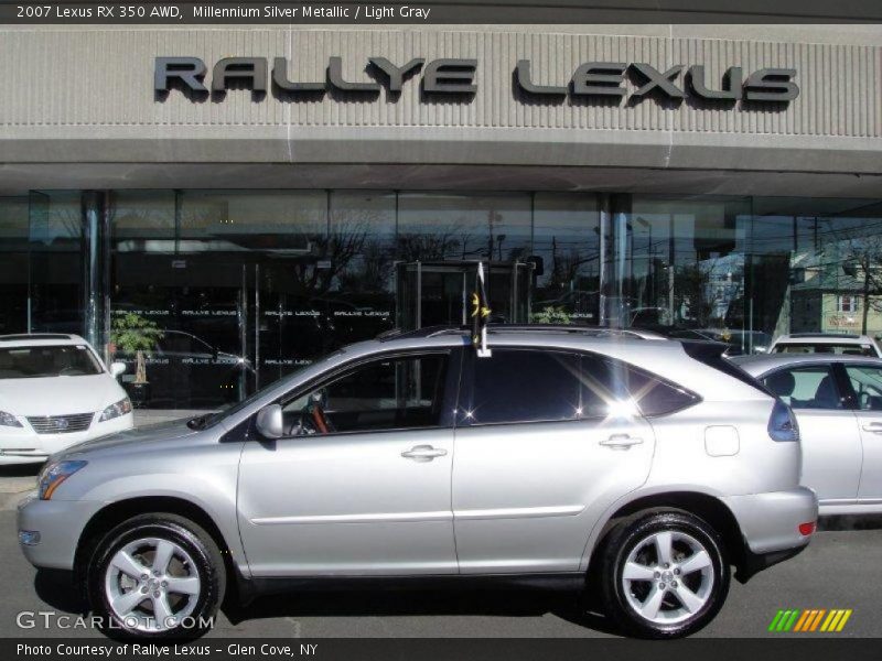
[[[198,638],[211,628],[225,588],[215,541],[170,513],[141,514],[114,528],[98,543],[86,577],[92,613],[118,639]]]

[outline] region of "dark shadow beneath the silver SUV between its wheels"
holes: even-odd
[[[615,633],[612,624],[579,595],[538,589],[311,589],[261,596],[246,607],[225,604],[223,610],[233,625],[281,617],[540,617],[551,614],[581,627]]]

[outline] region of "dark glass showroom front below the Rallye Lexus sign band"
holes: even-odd
[[[34,191],[0,198],[0,333],[83,334],[138,405],[212,409],[394,326],[467,323],[481,260],[496,323],[762,351],[882,335],[881,226],[873,199]]]

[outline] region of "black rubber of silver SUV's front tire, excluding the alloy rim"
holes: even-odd
[[[165,539],[180,544],[196,565],[202,592],[190,617],[195,627],[179,625],[164,631],[138,631],[128,629],[114,615],[105,594],[105,576],[110,561],[126,544],[143,538]],[[137,517],[111,530],[99,542],[87,575],[87,596],[93,614],[99,616],[101,630],[116,639],[190,639],[197,638],[206,631],[200,627],[200,618],[214,618],[223,600],[226,585],[223,559],[214,540],[198,525],[181,517],[148,514]]]

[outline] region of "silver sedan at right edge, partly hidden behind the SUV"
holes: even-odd
[[[820,513],[882,512],[882,360],[775,354],[735,358],[799,423],[803,484]]]

